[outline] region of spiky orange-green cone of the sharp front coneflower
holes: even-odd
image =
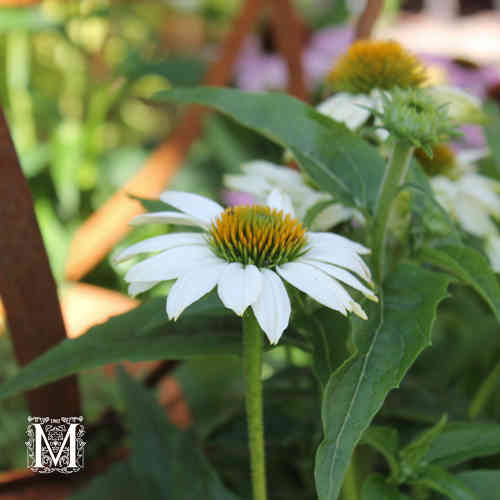
[[[261,205],[227,208],[209,229],[209,244],[218,257],[257,267],[290,262],[303,255],[306,243],[297,219]]]

